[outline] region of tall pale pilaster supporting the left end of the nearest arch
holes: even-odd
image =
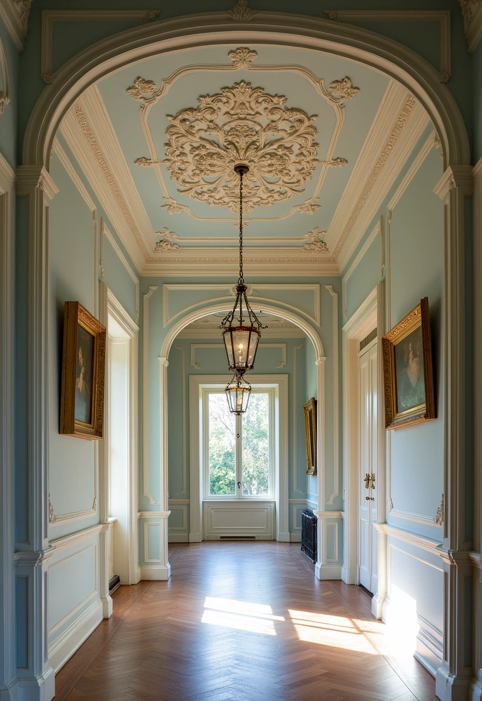
[[[50,701],[55,693],[48,662],[48,203],[58,192],[45,170],[22,165],[17,192],[29,198],[27,543],[15,553],[15,589],[23,608],[17,620],[18,686],[22,701]],[[22,636],[22,640],[20,640]],[[26,639],[24,639],[26,638]],[[22,660],[20,660],[22,656]]]

